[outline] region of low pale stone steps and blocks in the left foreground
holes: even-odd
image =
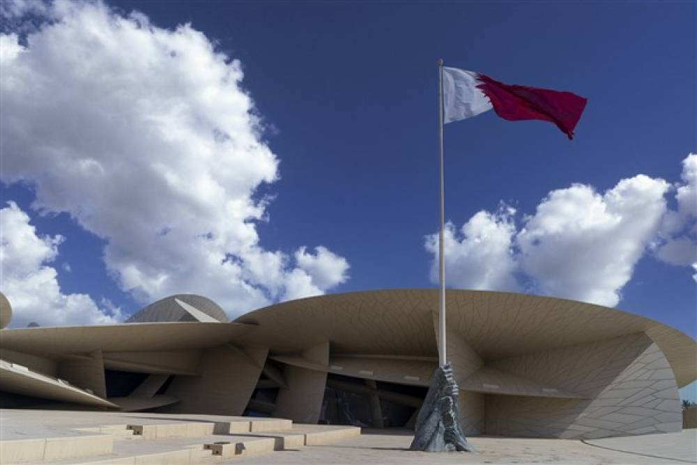
[[[199,464],[268,454],[277,450],[297,450],[305,445],[321,445],[360,435],[360,428],[332,425],[290,425],[289,421],[181,422],[155,425],[103,425],[82,428],[102,434],[48,439],[2,441],[0,463],[51,464]],[[256,425],[256,431],[249,429]],[[273,426],[284,429],[273,430]],[[262,431],[259,431],[261,429]],[[268,430],[266,430],[268,429]],[[226,432],[227,431],[227,432]],[[123,432],[137,433],[139,441]]]

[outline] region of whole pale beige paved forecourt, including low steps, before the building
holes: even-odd
[[[250,422],[256,426],[250,427]],[[284,425],[277,422],[286,422]],[[227,432],[192,434],[192,427],[224,423]],[[264,426],[266,424],[266,426]],[[125,425],[160,428],[167,434],[132,436]],[[186,425],[186,427],[184,427]],[[233,428],[237,425],[237,428]],[[242,425],[246,429],[239,429]],[[121,426],[121,428],[118,428]],[[177,429],[178,427],[178,429]],[[169,430],[167,429],[169,428]],[[173,429],[174,428],[174,429]],[[572,439],[473,436],[477,452],[412,452],[408,429],[362,429],[357,435],[340,425],[301,425],[289,420],[211,415],[167,415],[89,411],[0,410],[0,451],[13,441],[109,436],[107,452],[60,460],[24,463],[54,464],[679,464],[697,463],[697,429],[593,441]],[[234,429],[234,431],[233,431]],[[186,430],[186,432],[184,432]],[[337,434],[338,432],[338,434]],[[310,437],[314,440],[310,441]],[[271,439],[273,440],[271,440]],[[137,439],[137,440],[136,440]],[[270,444],[266,442],[270,441]],[[247,452],[215,457],[208,443],[243,442]],[[83,446],[87,443],[83,443]],[[266,444],[266,449],[260,448]],[[68,445],[68,443],[66,443]],[[93,445],[101,447],[98,443]],[[256,450],[255,450],[256,448]],[[97,450],[97,449],[95,449]],[[186,457],[181,459],[181,457]],[[5,462],[3,462],[5,463]],[[10,462],[7,462],[10,463]],[[20,463],[20,462],[11,462]]]

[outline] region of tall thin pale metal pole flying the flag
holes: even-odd
[[[441,176],[441,229],[438,236],[438,283],[441,285],[438,300],[438,363],[447,363],[445,356],[445,201],[443,200],[443,59],[438,59],[438,162]]]

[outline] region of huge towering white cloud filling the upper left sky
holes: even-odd
[[[238,60],[189,24],[31,3],[43,8],[32,24],[44,22],[0,36],[2,181],[30,183],[36,211],[67,212],[105,239],[121,289],[143,303],[203,294],[235,316],[346,280],[346,260],[323,247],[289,255],[260,243],[259,188],[278,178],[278,158]]]

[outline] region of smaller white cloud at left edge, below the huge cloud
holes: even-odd
[[[61,236],[36,235],[29,215],[10,202],[0,210],[0,288],[10,300],[13,327],[110,324],[121,314],[100,309],[86,294],[63,294],[56,269]],[[114,310],[114,309],[111,309]]]

